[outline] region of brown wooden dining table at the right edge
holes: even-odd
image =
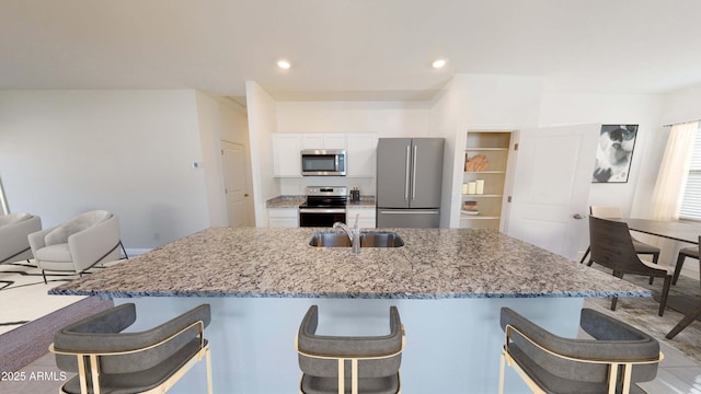
[[[617,220],[625,222],[629,230],[644,234],[662,236],[668,240],[696,245],[698,245],[701,240],[701,225],[690,222],[635,218]],[[677,325],[666,335],[667,339],[674,338],[682,329],[689,326],[689,324],[701,317],[701,301],[690,297],[669,296],[667,299],[667,305],[685,314],[681,321],[679,321],[679,323],[677,323]]]

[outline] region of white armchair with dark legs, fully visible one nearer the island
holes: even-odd
[[[97,263],[119,259],[119,221],[105,210],[81,213],[28,236],[36,265],[46,270],[82,274]],[[127,257],[128,258],[128,257]]]

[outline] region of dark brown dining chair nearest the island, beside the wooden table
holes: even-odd
[[[591,243],[591,262],[613,270],[613,276],[643,275],[651,278],[664,278],[659,301],[659,315],[665,313],[671,274],[674,268],[640,259],[633,246],[628,224],[619,221],[589,217],[589,242]],[[618,298],[611,301],[611,310],[616,310]]]

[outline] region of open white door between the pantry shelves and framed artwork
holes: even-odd
[[[521,131],[509,235],[576,258],[600,129],[578,125]]]

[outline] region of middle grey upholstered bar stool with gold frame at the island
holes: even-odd
[[[299,393],[401,392],[399,368],[405,339],[395,306],[390,308],[390,333],[384,336],[317,335],[318,322],[319,310],[312,305],[302,320],[296,339],[302,371]],[[350,391],[347,390],[348,385]]]

